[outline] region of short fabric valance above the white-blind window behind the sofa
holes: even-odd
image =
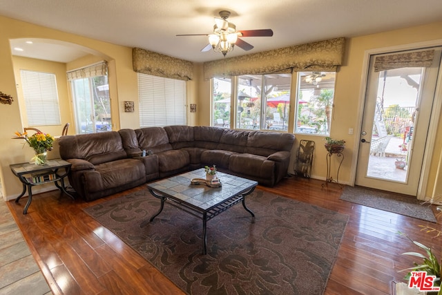
[[[180,80],[193,77],[193,62],[141,48],[132,49],[132,63],[137,73]]]

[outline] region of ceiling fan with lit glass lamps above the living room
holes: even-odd
[[[253,45],[242,40],[240,37],[271,37],[273,30],[236,30],[234,23],[227,21],[230,16],[230,11],[220,11],[220,17],[215,17],[215,25],[213,25],[212,34],[182,34],[177,36],[208,36],[209,44],[202,48],[202,52],[213,49],[215,52],[220,52],[224,57],[227,53],[233,50],[233,46],[238,46],[244,50],[251,50]]]

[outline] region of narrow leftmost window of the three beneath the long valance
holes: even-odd
[[[230,128],[231,79],[212,79],[212,126]]]

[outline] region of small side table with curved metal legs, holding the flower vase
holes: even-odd
[[[48,160],[48,162],[46,162],[44,165],[30,163],[10,165],[12,173],[14,173],[14,175],[17,176],[17,178],[19,178],[20,182],[23,184],[23,191],[21,192],[20,196],[15,199],[16,203],[19,202],[20,198],[26,193],[26,189],[28,189],[28,202],[23,210],[23,214],[28,213],[28,207],[30,202],[32,202],[32,187],[36,185],[53,182],[61,193],[66,193],[67,196],[75,200],[75,197],[66,191],[66,187],[64,185],[64,178],[66,178],[68,175],[70,166],[71,164],[69,162],[61,159]],[[61,171],[59,171],[60,169]],[[60,184],[58,182],[60,182]]]

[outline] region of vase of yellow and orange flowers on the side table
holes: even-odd
[[[52,151],[54,137],[49,133],[37,132],[30,136],[28,133],[15,133],[28,142],[29,146],[34,150],[35,156],[31,159],[36,165],[44,165],[48,161],[48,151]]]

